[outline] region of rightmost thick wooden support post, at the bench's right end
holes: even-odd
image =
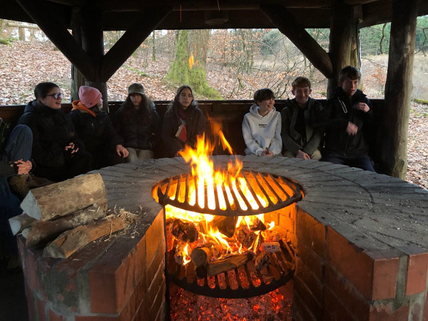
[[[382,173],[402,179],[406,178],[407,173],[407,135],[417,11],[417,0],[393,1],[380,158]]]

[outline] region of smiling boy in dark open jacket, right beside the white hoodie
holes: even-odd
[[[310,98],[312,89],[306,77],[297,77],[292,82],[293,99],[287,99],[281,111],[282,155],[290,158],[321,159],[318,150],[322,140],[322,128],[314,128],[314,113],[319,112],[321,103]]]

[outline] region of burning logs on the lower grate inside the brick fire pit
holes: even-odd
[[[200,234],[208,234],[205,225],[193,223],[178,218],[166,220],[167,248],[174,250],[175,262],[185,265],[186,256],[190,253],[190,260],[196,267],[198,274],[204,273],[213,276],[221,272],[240,267],[253,260],[255,267],[262,270],[270,264],[272,253],[282,250],[280,241],[284,242],[282,231],[275,228],[267,230],[262,221],[254,225],[235,228],[236,217],[216,216],[210,223],[213,228],[218,228],[225,240],[234,243],[238,241],[242,245],[244,253],[224,255],[225,249],[218,243],[207,242]],[[258,242],[257,244],[254,244]],[[286,242],[286,241],[285,241]],[[255,250],[251,250],[255,249]],[[199,273],[203,271],[202,273]]]

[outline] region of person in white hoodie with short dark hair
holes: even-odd
[[[276,111],[275,96],[269,88],[254,93],[255,104],[250,107],[243,121],[243,137],[247,148],[245,154],[257,156],[280,155],[281,114]]]

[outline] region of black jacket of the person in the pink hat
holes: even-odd
[[[85,144],[86,151],[93,153],[101,147],[114,147],[122,143],[106,111],[101,111],[94,117],[75,109],[68,116],[73,121],[78,137]]]

